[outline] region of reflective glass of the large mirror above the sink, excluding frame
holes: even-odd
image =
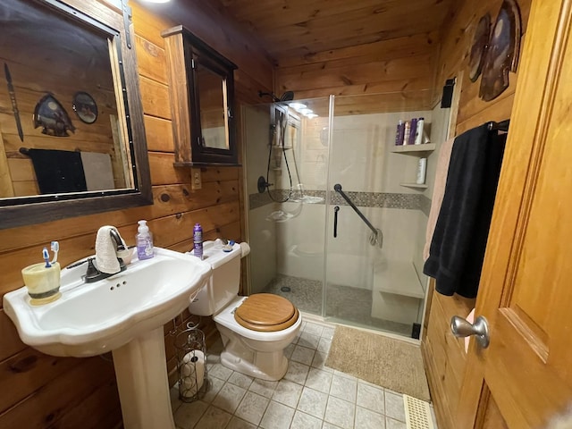
[[[0,85],[8,166],[0,197],[133,188],[114,91],[114,41],[101,29],[23,0],[4,2],[0,13],[4,79],[12,80]],[[91,108],[74,104],[79,92],[93,99]],[[82,121],[96,108],[97,121]]]

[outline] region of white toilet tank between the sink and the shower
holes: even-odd
[[[203,243],[203,260],[213,267],[213,273],[189,304],[193,315],[215,315],[239,294],[240,257],[248,254],[248,244],[235,243],[230,252],[223,248],[221,240]]]

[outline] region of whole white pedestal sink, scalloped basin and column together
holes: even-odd
[[[113,352],[125,429],[174,429],[163,325],[211,273],[198,257],[155,250],[98,282],[83,282],[85,264],[63,270],[62,298],[44,306],[31,306],[25,287],[4,295],[4,311],[25,344],[52,356]]]

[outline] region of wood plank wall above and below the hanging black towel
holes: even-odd
[[[523,38],[526,37],[526,23],[532,0],[517,0],[523,24]],[[490,13],[492,22],[496,19],[502,0],[458,2],[442,34],[441,56],[436,82],[461,77],[461,95],[458,105],[456,133],[460,134],[488,121],[502,121],[510,117],[517,73],[510,73],[510,86],[500,97],[484,102],[478,97],[480,78],[472,83],[468,73],[468,57],[475,26],[484,13]],[[522,43],[521,43],[522,46]],[[463,79],[463,75],[466,77]],[[450,318],[453,315],[467,316],[475,299],[445,297],[433,292],[427,329],[423,341],[425,367],[431,389],[435,414],[440,429],[457,429],[455,413],[458,404],[463,374],[466,366],[464,341],[456,339],[450,332]]]

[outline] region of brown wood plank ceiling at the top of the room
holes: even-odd
[[[292,57],[439,31],[454,0],[211,0],[276,66]]]

